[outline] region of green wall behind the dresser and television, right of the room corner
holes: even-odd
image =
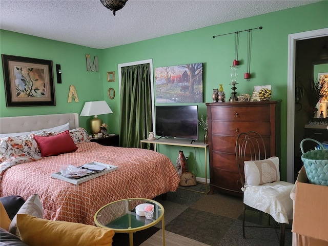
[[[272,99],[281,99],[281,177],[286,179],[286,111],[288,73],[288,35],[328,27],[326,17],[328,2],[278,11],[234,22],[210,26],[193,31],[154,38],[130,45],[122,45],[104,50],[108,57],[109,70],[117,71],[117,64],[136,60],[153,59],[153,66],[164,67],[189,63],[203,63],[204,102],[212,101],[212,92],[223,84],[226,96],[231,91],[230,66],[234,59],[235,35],[213,38],[213,35],[231,33],[262,26],[253,30],[251,55],[251,81],[245,81],[247,59],[247,32],[240,33],[239,54],[241,66],[238,68],[237,92],[252,94],[256,85],[271,85]],[[325,17],[322,17],[325,16]],[[106,58],[104,58],[106,59]],[[199,116],[206,115],[205,104],[198,104]],[[199,139],[203,130],[200,128]],[[161,152],[175,160],[180,148],[162,147]],[[203,155],[197,150],[184,148],[186,156],[194,156],[196,151],[197,176],[204,177]],[[191,171],[196,173],[195,164],[188,162]]]

